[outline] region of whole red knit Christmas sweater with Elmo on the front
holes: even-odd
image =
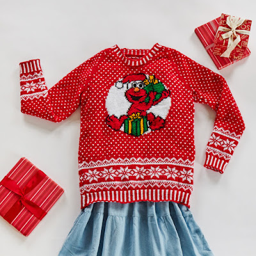
[[[223,173],[244,131],[225,79],[159,44],[105,49],[49,90],[40,61],[25,61],[20,86],[22,113],[60,122],[81,106],[81,208],[166,200],[189,207],[195,102],[216,111],[206,168]]]

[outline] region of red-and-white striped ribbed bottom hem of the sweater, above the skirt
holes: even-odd
[[[133,190],[112,190],[95,191],[81,195],[81,209],[95,202],[118,202],[127,204],[141,201],[172,201],[190,207],[191,193],[175,189],[133,189]]]

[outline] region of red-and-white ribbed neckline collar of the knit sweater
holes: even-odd
[[[146,64],[149,60],[153,58],[153,56],[162,48],[162,45],[154,44],[151,49],[120,49],[118,45],[114,45],[111,47],[112,51],[115,52],[116,56],[120,58],[120,60],[124,61],[124,63],[128,66],[140,66]],[[133,59],[128,58],[127,55],[142,55],[141,58]]]

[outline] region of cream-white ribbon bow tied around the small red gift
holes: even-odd
[[[237,35],[237,33],[240,33],[243,35],[250,35],[250,31],[248,31],[248,30],[236,29],[237,27],[241,26],[241,24],[243,24],[244,20],[245,19],[241,19],[239,17],[228,16],[227,17],[227,25],[230,28],[225,28],[222,26],[220,26],[218,28],[218,31],[227,32],[227,33],[221,35],[222,38],[223,39],[228,38],[227,50],[225,52],[223,52],[223,54],[221,54],[221,57],[229,58],[230,53],[234,50],[236,45],[239,44],[239,42],[241,41],[241,38],[239,35]],[[233,41],[234,35],[236,36],[236,40]]]

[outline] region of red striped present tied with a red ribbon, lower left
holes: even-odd
[[[0,182],[0,215],[28,236],[64,190],[22,157]]]

